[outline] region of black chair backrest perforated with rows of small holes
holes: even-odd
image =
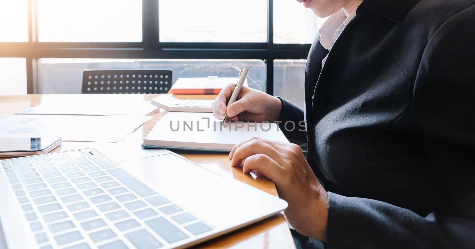
[[[85,70],[83,94],[161,94],[171,87],[171,70]]]

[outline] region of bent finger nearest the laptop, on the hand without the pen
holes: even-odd
[[[260,171],[272,182],[276,183],[276,185],[278,185],[278,182],[282,179],[285,179],[284,168],[265,154],[255,154],[246,158],[242,171],[249,173],[253,170]]]

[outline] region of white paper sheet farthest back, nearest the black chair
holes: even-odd
[[[41,105],[17,114],[148,115],[158,107],[140,95],[64,95],[43,98]]]

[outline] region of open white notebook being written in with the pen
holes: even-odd
[[[258,136],[288,142],[275,123],[225,123],[212,113],[169,112],[143,140],[145,148],[229,152],[245,139]]]

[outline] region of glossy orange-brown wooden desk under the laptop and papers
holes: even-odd
[[[61,95],[65,99],[68,95]],[[141,95],[143,100],[151,100],[158,95]],[[58,97],[58,95],[55,95]],[[127,96],[123,96],[127,97]],[[137,97],[137,96],[135,96]],[[215,96],[189,95],[175,96],[186,99],[213,99]],[[51,98],[50,95],[23,95],[23,96],[0,96],[0,118],[14,115],[16,112],[25,110],[31,106],[40,105],[42,101]],[[63,142],[54,152],[76,150],[96,146],[119,146],[120,144],[132,144],[131,150],[142,150],[142,139],[152,130],[153,126],[166,112],[157,109],[150,114],[153,118],[136,129],[125,141],[117,143],[94,143],[94,142]],[[136,146],[135,146],[136,144]],[[79,147],[78,147],[79,146]],[[99,150],[100,151],[100,150]],[[180,152],[179,152],[180,153]],[[198,163],[201,167],[209,169],[225,177],[233,177],[241,182],[261,189],[277,196],[276,187],[265,177],[255,173],[244,174],[241,169],[229,165],[227,154],[204,154],[204,153],[180,153],[187,159]],[[7,159],[7,158],[1,158]],[[212,239],[199,245],[202,248],[295,248],[294,240],[290,234],[285,218],[282,214],[275,215],[254,225],[234,231],[227,235]]]

